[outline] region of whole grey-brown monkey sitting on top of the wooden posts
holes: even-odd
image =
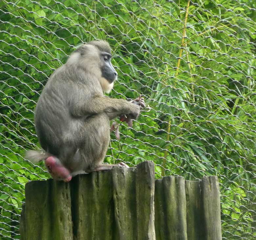
[[[35,108],[41,151],[28,150],[32,162],[44,160],[51,176],[69,182],[77,174],[110,170],[103,164],[110,142],[110,120],[136,119],[144,100],[104,96],[117,79],[110,45],[94,40],[77,48],[48,79]],[[134,104],[135,103],[135,104]],[[124,163],[117,166],[127,167]]]

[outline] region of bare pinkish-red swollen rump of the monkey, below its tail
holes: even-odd
[[[64,182],[69,182],[72,179],[70,171],[56,157],[48,157],[45,160],[45,166],[53,179],[63,180]]]

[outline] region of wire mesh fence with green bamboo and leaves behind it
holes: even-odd
[[[223,239],[256,239],[256,3],[249,0],[0,2],[0,238],[19,239],[28,181],[49,178],[33,110],[53,70],[106,39],[118,80],[109,96],[147,108],[111,133],[106,163],[155,163],[156,178],[217,175]]]

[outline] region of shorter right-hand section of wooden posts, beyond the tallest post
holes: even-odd
[[[215,176],[200,181],[174,176],[156,180],[156,239],[221,240],[220,206]]]

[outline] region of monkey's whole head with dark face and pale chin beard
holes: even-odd
[[[117,71],[111,64],[111,48],[106,41],[91,41],[82,45],[72,53],[69,62],[76,62],[86,72],[96,76],[104,92],[112,90]]]

